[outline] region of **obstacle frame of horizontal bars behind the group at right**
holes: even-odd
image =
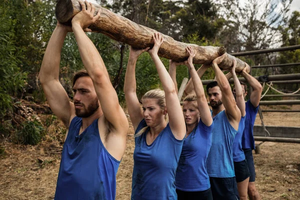
[[[254,54],[262,54],[268,52],[279,52],[279,51],[286,51],[286,50],[295,50],[300,49],[300,45],[293,45],[293,46],[285,46],[279,48],[270,48],[270,49],[261,49],[261,50],[253,50],[253,51],[245,51],[245,52],[236,52],[230,53],[234,56],[243,56],[243,55],[254,55]],[[270,65],[254,65],[250,66],[252,68],[266,68],[266,67],[296,67],[299,66],[300,62],[297,63],[285,63],[285,64],[270,64]],[[251,71],[250,70],[250,71]],[[300,73],[293,73],[293,74],[279,74],[279,75],[261,75],[255,76],[255,78],[259,82],[267,82],[272,84],[298,84],[300,83]],[[246,82],[245,78],[238,78],[240,81]],[[213,81],[210,80],[201,80],[203,85],[208,84],[209,82]],[[233,83],[233,80],[230,79],[229,83]],[[186,85],[186,80],[183,82],[184,86]],[[183,86],[183,85],[181,85]],[[183,94],[183,90],[181,91]],[[178,93],[179,94],[179,93]],[[182,96],[181,94],[181,96]],[[181,97],[180,96],[180,97]],[[300,94],[267,94],[264,96],[300,96]],[[179,97],[179,96],[178,96]],[[181,99],[181,98],[179,98]],[[181,102],[182,104],[182,102]],[[208,102],[209,104],[209,102]],[[294,105],[300,104],[300,100],[265,100],[260,101],[259,105]],[[259,109],[259,116],[261,119],[261,126],[254,125],[253,134],[254,139],[257,141],[276,141],[276,142],[292,142],[292,143],[300,143],[300,127],[288,127],[288,126],[265,126],[263,123],[263,116],[262,112],[298,112],[300,110],[260,110]],[[269,133],[271,132],[271,134]],[[269,136],[266,135],[269,134]],[[270,136],[272,135],[272,136]],[[261,143],[262,143],[261,142]],[[260,143],[260,144],[261,144]]]

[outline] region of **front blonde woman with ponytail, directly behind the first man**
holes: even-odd
[[[128,113],[135,131],[132,200],[177,199],[175,172],[185,123],[173,81],[157,55],[163,37],[155,33],[153,40],[152,49],[130,48],[124,82]],[[155,63],[163,91],[146,92],[141,99],[141,109],[136,96],[135,64],[144,51],[149,52]],[[165,121],[167,113],[168,123]]]

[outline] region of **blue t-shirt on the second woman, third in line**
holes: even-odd
[[[202,120],[184,139],[176,170],[176,189],[203,191],[210,188],[206,159],[211,146],[213,122],[206,126]]]

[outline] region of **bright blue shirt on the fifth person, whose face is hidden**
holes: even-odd
[[[245,127],[245,119],[246,119],[246,115],[241,116],[238,124],[238,131],[233,140],[232,156],[234,162],[240,162],[245,159],[245,154],[241,148],[241,137]]]

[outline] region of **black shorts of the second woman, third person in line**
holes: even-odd
[[[182,191],[176,189],[178,200],[212,200],[211,189],[203,191]]]

